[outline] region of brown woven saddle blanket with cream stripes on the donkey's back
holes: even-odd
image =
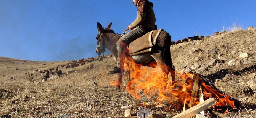
[[[152,30],[142,37],[132,41],[129,45],[130,55],[137,55],[141,53],[151,52],[152,47],[156,45],[156,39],[163,29]]]

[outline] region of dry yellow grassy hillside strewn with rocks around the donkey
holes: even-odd
[[[256,29],[237,30],[196,42],[171,47],[176,78],[184,73],[200,73],[201,78],[241,101],[249,109],[228,112],[228,117],[256,117]],[[241,55],[243,54],[243,55]],[[96,58],[96,57],[95,57]],[[172,117],[179,109],[156,108],[152,99],[132,97],[124,88],[111,85],[117,74],[113,58],[92,61],[78,67],[61,68],[63,75],[50,75],[41,82],[39,71],[71,61],[30,61],[0,57],[0,115],[13,117],[111,117],[124,116],[124,110],[137,113],[144,102],[152,113]],[[93,68],[87,68],[93,64]],[[15,70],[18,68],[18,70]],[[28,74],[33,73],[33,80]],[[37,75],[37,76],[36,76]],[[15,77],[15,79],[10,79]],[[27,79],[26,79],[27,78]],[[123,83],[127,80],[123,79]],[[97,84],[97,85],[96,85]],[[127,106],[123,108],[122,106]],[[122,109],[122,108],[123,109]],[[63,116],[60,116],[63,115]],[[216,117],[207,114],[207,117]]]

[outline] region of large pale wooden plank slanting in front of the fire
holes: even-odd
[[[181,112],[172,118],[190,118],[193,117],[195,114],[210,108],[211,106],[215,105],[216,102],[213,98],[209,98],[206,101],[197,104],[196,106],[191,107],[190,109],[186,110],[185,112]]]

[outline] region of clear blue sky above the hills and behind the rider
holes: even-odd
[[[256,27],[256,1],[153,2],[158,28],[177,41],[240,24]],[[97,22],[121,34],[136,18],[132,0],[0,0],[0,56],[62,61],[98,56]],[[109,51],[105,54],[110,54]]]

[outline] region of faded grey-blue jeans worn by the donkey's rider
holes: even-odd
[[[116,46],[117,46],[117,63],[116,66],[120,68],[120,56],[124,51],[124,47],[126,47],[127,45],[129,45],[129,43],[131,43],[132,41],[134,41],[135,39],[145,35],[146,33],[152,31],[149,28],[144,28],[144,27],[136,27],[132,30],[130,30],[127,34],[125,34],[124,36],[122,36],[119,40],[117,40],[116,42]],[[122,44],[126,44],[126,45],[122,45]]]

